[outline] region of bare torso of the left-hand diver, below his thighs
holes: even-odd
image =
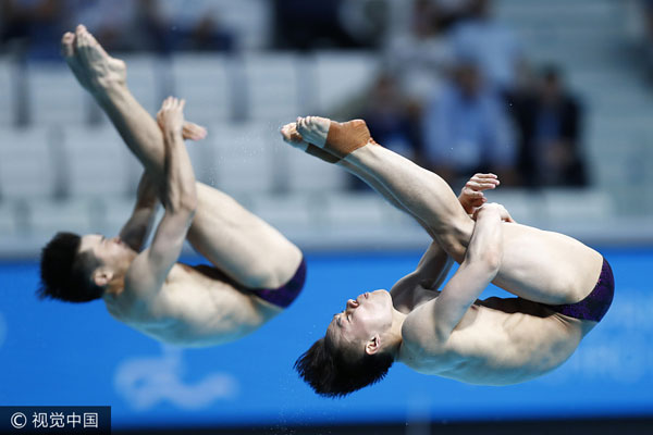
[[[104,296],[116,320],[160,341],[214,346],[241,338],[279,314],[282,309],[241,290],[217,269],[176,263],[153,297],[125,288]]]

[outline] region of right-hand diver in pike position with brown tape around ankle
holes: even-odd
[[[494,175],[477,174],[456,198],[436,174],[377,144],[361,120],[299,117],[281,133],[359,176],[432,238],[415,272],[390,291],[347,300],[299,357],[295,368],[316,393],[345,396],[383,378],[395,361],[471,384],[529,381],[563,364],[609,308],[607,261],[485,203]],[[439,290],[452,260],[459,268]],[[490,283],[516,297],[479,299]]]

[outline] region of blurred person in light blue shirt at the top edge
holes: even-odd
[[[510,92],[521,60],[512,29],[492,15],[491,0],[470,0],[468,15],[449,33],[457,55],[473,57],[489,85]]]

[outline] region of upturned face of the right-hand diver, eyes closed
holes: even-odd
[[[365,344],[392,325],[392,297],[385,290],[365,293],[347,300],[345,310],[335,314],[326,335],[336,346]]]

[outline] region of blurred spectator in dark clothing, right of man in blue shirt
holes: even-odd
[[[588,185],[580,153],[581,107],[556,67],[546,67],[532,96],[516,101],[519,170],[530,187]]]

